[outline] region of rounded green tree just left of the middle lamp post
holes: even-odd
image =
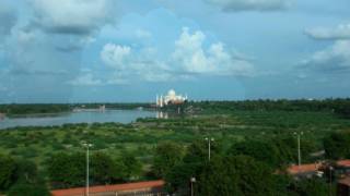
[[[178,164],[184,156],[180,145],[173,142],[164,142],[158,145],[153,158],[152,169],[158,177],[165,175]]]

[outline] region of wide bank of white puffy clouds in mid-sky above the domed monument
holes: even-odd
[[[156,46],[120,46],[106,44],[101,59],[107,66],[115,69],[119,83],[136,76],[148,82],[165,82],[192,78],[197,74],[252,76],[254,66],[245,56],[228,51],[218,41],[205,45],[206,35],[201,30],[189,32],[184,27],[179,37],[173,40],[170,52],[160,52]]]

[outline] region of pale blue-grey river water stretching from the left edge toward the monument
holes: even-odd
[[[15,126],[51,126],[67,123],[88,123],[88,122],[119,122],[130,123],[138,118],[154,118],[155,111],[144,110],[86,110],[80,112],[26,115],[19,118],[4,118],[0,120],[0,128]]]

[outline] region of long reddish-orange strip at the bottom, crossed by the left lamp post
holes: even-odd
[[[147,181],[137,183],[115,184],[91,186],[89,195],[91,196],[158,196],[164,195],[162,189],[164,181]],[[51,191],[52,196],[85,196],[85,187],[70,188],[70,189],[55,189]]]

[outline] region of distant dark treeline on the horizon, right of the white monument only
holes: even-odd
[[[350,117],[350,99],[324,100],[244,100],[244,101],[190,101],[187,105],[199,107],[207,112],[232,110],[264,110],[264,111],[330,111],[343,117]]]

